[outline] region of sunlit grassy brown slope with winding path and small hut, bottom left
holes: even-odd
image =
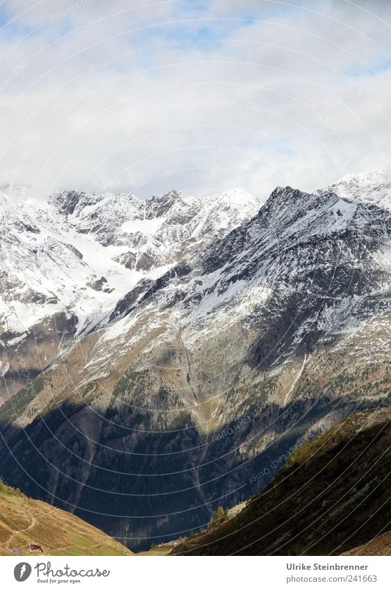
[[[30,543],[38,555],[132,555],[77,516],[0,482],[0,555],[31,555]]]

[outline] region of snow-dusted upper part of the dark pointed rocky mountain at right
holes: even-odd
[[[230,340],[231,331],[246,334],[247,361],[257,370],[281,369],[321,344],[337,345],[390,311],[390,233],[391,215],[383,208],[334,192],[276,188],[254,218],[213,242],[194,265],[179,263],[154,282],[140,281],[119,301],[94,348],[90,378],[98,367],[122,363],[133,347],[172,347],[179,334],[192,354],[213,339]],[[152,332],[158,335],[151,338]],[[229,345],[233,357],[240,346]],[[377,354],[385,359],[388,334],[360,351],[369,361]],[[235,379],[232,362],[228,350],[219,359],[228,375],[224,387]],[[214,375],[208,356],[199,364],[204,375]],[[209,379],[197,387],[206,395],[216,391]],[[282,387],[276,400],[286,403],[290,393]]]

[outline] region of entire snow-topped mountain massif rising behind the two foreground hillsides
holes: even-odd
[[[351,196],[346,179],[315,194],[278,187],[262,207],[238,190],[205,202],[63,192],[23,239],[9,217],[8,480],[145,548],[260,491],[292,448],[352,411],[387,404],[390,192],[379,174],[375,203],[368,183],[352,180]],[[12,215],[27,223],[30,210]],[[42,294],[39,277],[58,302],[28,300],[13,342],[34,242],[31,288]],[[29,337],[40,374],[23,383]]]

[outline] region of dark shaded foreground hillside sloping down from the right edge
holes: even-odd
[[[349,416],[295,450],[233,520],[174,555],[389,555],[391,409]]]

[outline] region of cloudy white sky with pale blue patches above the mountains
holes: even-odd
[[[0,183],[315,190],[389,169],[385,0],[0,2]]]

